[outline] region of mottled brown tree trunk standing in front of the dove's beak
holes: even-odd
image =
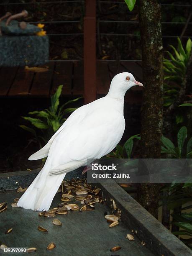
[[[163,113],[163,46],[157,0],[138,0],[143,65],[142,158],[160,158]],[[138,200],[158,218],[159,184],[140,184]]]

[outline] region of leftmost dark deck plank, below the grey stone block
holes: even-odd
[[[0,69],[0,96],[6,96],[13,80],[18,67],[2,67]]]

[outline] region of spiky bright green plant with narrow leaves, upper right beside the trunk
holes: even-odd
[[[178,40],[178,50],[174,46],[170,45],[173,50],[173,54],[170,51],[166,51],[170,59],[164,58],[164,106],[171,105],[177,93],[182,87],[182,83],[186,77],[187,64],[189,62],[192,41],[189,38],[187,44],[184,47],[180,38]]]

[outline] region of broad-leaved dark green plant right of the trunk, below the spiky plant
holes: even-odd
[[[191,158],[192,157],[192,138],[187,141],[187,146],[185,146],[185,141],[187,139],[187,128],[182,126],[177,133],[177,146],[164,136],[161,137],[161,153],[169,154],[172,158]]]

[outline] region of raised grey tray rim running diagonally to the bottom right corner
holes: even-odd
[[[96,184],[102,189],[107,205],[113,199],[121,210],[121,221],[130,230],[137,230],[137,236],[158,256],[192,256],[192,251],[174,236],[164,225],[145,210],[136,200],[125,192],[116,182],[108,180]]]

